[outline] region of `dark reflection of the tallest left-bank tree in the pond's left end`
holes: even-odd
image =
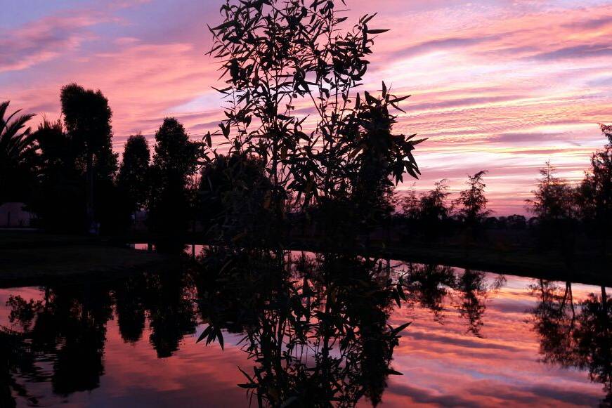
[[[3,329],[3,336],[13,341],[9,369],[29,381],[51,381],[53,392],[60,395],[97,388],[112,314],[108,289],[56,287],[45,294],[42,302],[9,298],[9,319],[20,326],[18,331]],[[37,355],[53,356],[50,376],[37,366]]]

